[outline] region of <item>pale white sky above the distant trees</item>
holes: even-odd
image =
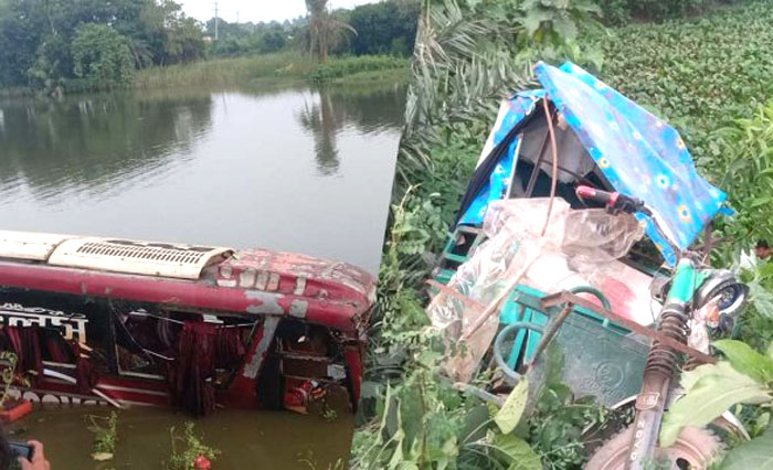
[[[215,0],[177,0],[189,17],[207,21],[214,17]],[[352,8],[358,4],[373,3],[374,0],[330,0],[336,8]],[[306,14],[305,0],[218,0],[219,15],[227,22],[239,21],[284,21]]]

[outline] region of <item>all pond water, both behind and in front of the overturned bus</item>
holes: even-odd
[[[265,247],[378,273],[405,88],[398,84],[178,89],[0,102],[0,228]],[[11,426],[56,470],[162,469],[167,409],[119,412],[95,462],[88,416],[39,409]],[[353,417],[218,409],[195,420],[213,469],[327,469]]]

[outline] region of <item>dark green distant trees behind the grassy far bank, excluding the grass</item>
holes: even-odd
[[[330,53],[410,55],[419,12],[419,0],[336,10],[330,15],[351,28]],[[207,56],[308,52],[308,24],[219,20],[214,41],[214,20],[202,24],[173,0],[0,0],[0,88],[106,88],[129,84],[137,70]]]

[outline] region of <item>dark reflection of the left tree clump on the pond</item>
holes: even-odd
[[[0,191],[24,184],[35,199],[70,190],[119,192],[184,162],[211,127],[209,95],[104,94],[0,104]]]

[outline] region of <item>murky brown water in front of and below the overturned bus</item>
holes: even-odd
[[[181,436],[189,416],[155,408],[118,412],[118,442],[113,460],[97,462],[93,421],[103,423],[110,409],[105,406],[35,412],[13,425],[11,439],[41,440],[54,470],[163,470],[171,456],[170,427]],[[286,412],[244,413],[221,409],[197,419],[195,432],[220,455],[213,470],[287,469],[327,470],[347,461],[353,417],[336,419],[301,416]],[[178,448],[180,442],[177,442]]]

